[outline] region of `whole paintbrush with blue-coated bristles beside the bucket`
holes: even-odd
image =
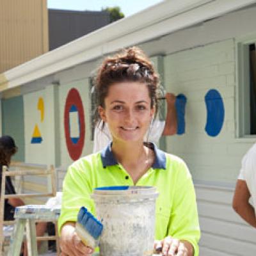
[[[76,233],[83,243],[91,248],[99,245],[103,225],[85,207],[81,207],[77,215]]]

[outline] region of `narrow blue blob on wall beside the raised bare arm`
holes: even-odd
[[[177,113],[177,134],[182,135],[185,133],[185,109],[186,109],[187,98],[184,94],[180,93],[176,96],[175,108]]]

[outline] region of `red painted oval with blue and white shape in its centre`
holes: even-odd
[[[84,147],[85,122],[83,102],[75,88],[69,90],[66,98],[64,128],[68,154],[72,160],[76,160],[81,156]]]

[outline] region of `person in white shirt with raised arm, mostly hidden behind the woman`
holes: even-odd
[[[177,133],[177,115],[175,109],[175,95],[166,93],[165,100],[167,104],[166,119],[164,121],[152,120],[152,124],[145,136],[145,141],[157,143],[161,136],[168,136]],[[103,124],[100,121],[95,125],[93,136],[93,153],[99,152],[112,141],[111,134],[108,129],[108,124]]]

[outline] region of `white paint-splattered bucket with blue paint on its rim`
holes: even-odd
[[[104,229],[101,256],[153,254],[155,209],[158,193],[147,186],[97,188],[92,198]]]

